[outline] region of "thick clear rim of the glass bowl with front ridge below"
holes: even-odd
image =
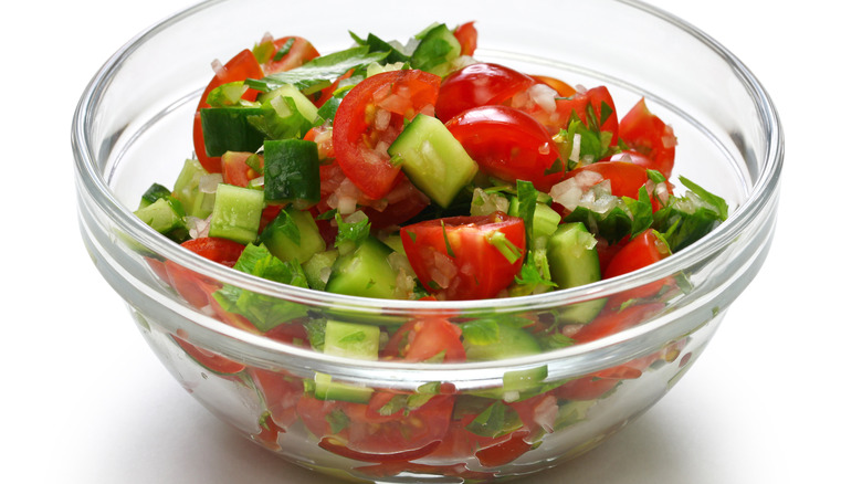
[[[658,17],[671,25],[684,31],[692,38],[706,45],[711,51],[722,57],[725,63],[736,74],[738,81],[748,90],[751,101],[755,102],[757,114],[760,118],[763,130],[766,137],[763,169],[759,176],[750,187],[749,197],[734,210],[722,225],[707,234],[697,243],[674,254],[672,257],[660,261],[640,271],[635,271],[623,276],[605,280],[589,285],[554,291],[550,293],[529,295],[502,299],[482,299],[482,301],[444,301],[444,302],[414,302],[414,301],[392,301],[374,299],[365,297],[346,296],[319,291],[304,290],[293,287],[260,277],[254,277],[239,271],[233,271],[216,262],[200,257],[190,251],[181,249],[153,231],[148,225],[135,217],[130,210],[125,208],[112,193],[111,188],[105,182],[103,173],[97,169],[94,157],[94,147],[88,135],[88,126],[93,119],[93,112],[98,106],[99,97],[109,86],[111,81],[124,65],[124,61],[136,50],[153,36],[165,29],[187,19],[199,11],[221,3],[225,0],[209,0],[191,6],[185,10],[175,13],[149,29],[138,33],[125,45],[123,45],[114,55],[112,55],[99,71],[94,75],[85,91],[83,92],[72,123],[72,147],[75,156],[75,166],[80,179],[78,190],[85,190],[87,197],[101,209],[120,230],[130,234],[136,241],[147,246],[159,255],[186,266],[199,274],[207,275],[225,284],[243,287],[261,294],[275,297],[288,296],[291,301],[308,304],[316,307],[345,308],[356,312],[379,313],[381,307],[386,307],[388,315],[409,316],[422,313],[440,314],[441,312],[482,312],[492,311],[494,313],[514,313],[527,309],[546,309],[561,304],[574,304],[577,302],[592,298],[606,297],[608,295],[622,292],[629,288],[648,284],[667,277],[680,270],[693,266],[698,262],[723,251],[737,236],[758,218],[763,210],[769,209],[769,201],[777,197],[779,188],[779,177],[784,162],[784,131],[780,120],[771,98],[761,86],[756,76],[727,49],[717,43],[700,29],[691,25],[684,20],[667,13],[659,8],[643,3],[638,0],[609,0],[623,3],[633,9],[641,10],[646,14]],[[308,351],[302,348],[282,344],[270,338],[254,335],[238,328],[233,328],[214,318],[206,318],[206,322],[197,323],[204,326],[206,329],[227,336],[233,340],[240,341],[243,346],[263,350],[262,354],[275,355],[283,354],[293,358],[308,358],[320,360],[333,365],[344,365],[349,362],[351,366],[361,366],[365,368],[398,368],[404,369],[433,369],[446,367],[448,370],[454,368],[474,368],[498,367],[501,364],[512,367],[521,362],[529,365],[532,362],[547,361],[549,355],[536,355],[535,357],[524,357],[517,359],[475,362],[475,364],[446,364],[446,365],[417,365],[417,364],[393,364],[385,361],[356,361],[350,359],[330,357],[318,353]],[[599,348],[609,348],[621,341],[632,341],[639,336],[651,330],[672,323],[671,318],[658,318],[645,325],[635,326],[618,334],[605,337],[597,341],[585,345],[576,345],[570,348],[554,351],[554,359],[568,359],[578,355],[589,354]],[[269,359],[269,358],[264,358]],[[281,358],[278,358],[281,359]]]

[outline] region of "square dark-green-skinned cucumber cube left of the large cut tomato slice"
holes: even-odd
[[[317,144],[303,139],[263,143],[264,199],[314,204],[320,201]]]

